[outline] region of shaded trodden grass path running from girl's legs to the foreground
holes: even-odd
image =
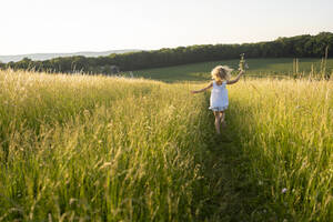
[[[209,93],[205,94],[209,101]],[[251,213],[255,208],[253,200],[258,191],[249,183],[246,173],[249,160],[243,154],[238,122],[233,121],[233,110],[228,110],[228,127],[221,135],[215,134],[214,117],[209,110],[205,118],[209,132],[206,137],[205,160],[202,161],[201,188],[199,202],[203,210],[198,221],[253,221]]]

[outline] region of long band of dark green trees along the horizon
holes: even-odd
[[[82,56],[32,61],[24,58],[18,62],[1,63],[0,68],[32,69],[49,72],[112,73],[114,67],[121,71],[178,64],[238,59],[240,53],[246,58],[322,58],[329,48],[332,57],[333,33],[321,32],[316,36],[303,34],[278,38],[274,41],[243,44],[200,44],[173,49],[128,52],[108,57],[89,58]],[[331,49],[331,51],[330,51]]]

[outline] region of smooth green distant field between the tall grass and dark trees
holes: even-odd
[[[250,69],[248,75],[285,75],[293,73],[293,59],[248,59]],[[238,69],[239,60],[225,60],[214,62],[202,62],[193,64],[184,64],[168,68],[147,69],[133,71],[135,77],[143,77],[153,80],[161,80],[167,82],[174,81],[206,81],[210,80],[211,70],[218,64],[226,64],[233,69]],[[313,64],[314,72],[321,70],[320,59],[299,59],[299,72],[309,73]],[[332,72],[333,59],[327,60],[326,70]]]

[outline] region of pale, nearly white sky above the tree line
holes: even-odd
[[[1,0],[0,54],[160,49],[333,32],[332,0]]]

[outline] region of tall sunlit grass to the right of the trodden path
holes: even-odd
[[[231,88],[258,221],[333,220],[333,82],[248,80]]]

